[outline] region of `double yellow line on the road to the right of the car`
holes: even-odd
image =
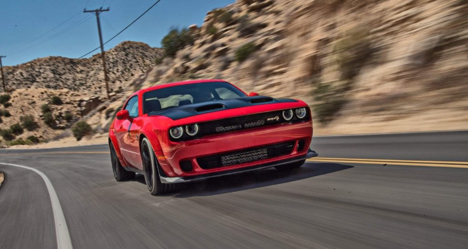
[[[310,162],[345,162],[345,163],[366,163],[366,164],[388,164],[388,165],[410,165],[425,167],[447,167],[468,169],[466,161],[419,161],[419,160],[393,160],[393,159],[360,159],[360,158],[333,158],[314,157],[307,159]]]

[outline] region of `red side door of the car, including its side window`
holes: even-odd
[[[131,167],[141,168],[141,158],[138,145],[139,126],[135,123],[140,123],[138,96],[132,97],[127,101],[125,110],[129,111],[130,118],[119,120],[115,123],[115,133],[120,145],[120,152],[126,163]]]

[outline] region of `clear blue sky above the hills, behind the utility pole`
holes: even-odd
[[[155,2],[156,0],[2,1],[0,55],[7,56],[2,58],[3,65],[17,65],[47,56],[78,58],[99,47],[96,17],[92,13],[83,13],[84,8],[110,8],[109,12],[102,12],[100,15],[105,42]],[[162,37],[171,27],[201,25],[206,12],[234,2],[235,0],[161,0],[136,23],[105,45],[105,50],[124,40],[142,41],[152,47],[160,47]],[[67,19],[69,20],[63,23]],[[99,50],[87,57],[98,52]]]

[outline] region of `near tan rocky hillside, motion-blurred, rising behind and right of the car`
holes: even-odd
[[[321,134],[468,128],[467,1],[238,0],[190,30],[144,86],[215,77],[300,98]]]

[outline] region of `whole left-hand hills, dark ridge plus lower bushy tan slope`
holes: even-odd
[[[92,123],[94,132],[101,132],[114,108],[133,91],[134,81],[144,77],[161,54],[161,49],[134,41],[107,51],[111,100],[106,99],[99,54],[89,59],[39,58],[4,67],[9,93],[0,92],[0,146],[71,136],[73,123],[102,114],[104,123]]]

